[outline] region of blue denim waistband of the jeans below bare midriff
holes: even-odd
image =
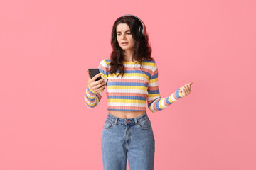
[[[110,118],[110,120],[112,120],[114,122],[114,124],[121,124],[121,125],[136,125],[137,123],[139,123],[139,121],[144,120],[145,118],[147,118],[147,113],[145,111],[145,113],[143,115],[140,115],[139,117],[136,118],[128,118],[128,119],[123,119],[123,118],[117,118],[114,115],[111,115],[110,113],[108,113],[107,118]]]

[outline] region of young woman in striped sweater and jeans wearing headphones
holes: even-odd
[[[107,86],[108,114],[103,125],[101,150],[105,170],[124,170],[127,157],[130,170],[154,169],[155,140],[146,113],[161,111],[188,95],[191,83],[161,98],[158,69],[151,58],[146,26],[137,17],[117,18],[112,27],[110,59],[100,62],[100,74],[90,77],[85,92],[88,108],[99,105]],[[95,81],[97,77],[100,81]]]

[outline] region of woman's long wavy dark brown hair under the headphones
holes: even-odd
[[[136,60],[139,62],[140,69],[142,69],[142,60],[154,60],[154,58],[151,58],[151,46],[149,45],[149,35],[146,33],[146,26],[144,24],[144,34],[145,36],[141,36],[139,34],[139,26],[142,26],[141,21],[139,21],[138,18],[134,16],[120,16],[117,18],[117,20],[114,22],[114,25],[112,27],[112,35],[111,35],[111,46],[112,46],[112,52],[110,55],[110,74],[116,73],[117,70],[119,70],[119,74],[122,74],[122,77],[124,75],[124,64],[122,63],[124,61],[124,50],[119,46],[117,42],[117,25],[119,23],[127,23],[129,26],[132,38],[134,39],[135,45],[134,45],[134,56],[133,60]],[[119,76],[119,74],[117,76]]]

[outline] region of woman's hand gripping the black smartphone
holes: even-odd
[[[96,74],[95,77],[90,77],[89,72],[87,71],[88,74],[88,86],[90,87],[90,89],[92,89],[93,92],[97,92],[100,91],[101,89],[103,89],[106,84],[104,79],[100,79],[98,81],[95,81],[97,79],[97,77],[100,77],[102,73]]]

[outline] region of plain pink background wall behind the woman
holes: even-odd
[[[255,1],[0,3],[0,169],[102,169],[107,96],[85,105],[87,69],[110,57],[114,21],[144,21],[161,97],[147,113],[155,169],[256,169]]]

